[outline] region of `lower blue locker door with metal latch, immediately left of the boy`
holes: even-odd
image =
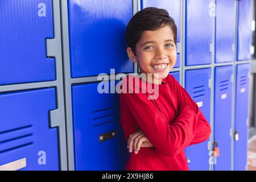
[[[75,169],[125,170],[129,151],[119,122],[119,95],[100,94],[97,86],[72,86]]]

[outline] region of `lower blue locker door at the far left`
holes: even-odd
[[[0,166],[26,158],[20,170],[58,170],[57,129],[49,128],[55,89],[2,93],[0,108]]]

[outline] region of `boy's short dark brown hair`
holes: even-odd
[[[146,7],[145,9],[138,11],[126,27],[126,43],[127,47],[133,50],[136,55],[135,46],[141,39],[143,31],[158,30],[164,26],[170,26],[174,33],[175,44],[177,42],[177,27],[175,21],[168,12],[164,9],[158,9],[156,7]]]

